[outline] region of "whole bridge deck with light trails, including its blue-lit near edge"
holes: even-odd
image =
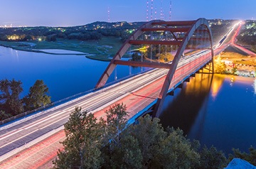
[[[193,60],[193,62],[186,63],[186,65],[182,65],[181,62],[181,67],[176,70],[170,89],[174,89],[176,84],[183,82],[186,77],[191,75],[193,72],[196,72],[196,70],[209,61],[210,55],[206,55],[196,58]],[[108,109],[111,105],[123,102],[127,106],[127,111],[129,111],[129,118],[132,119],[130,122],[133,122],[133,117],[136,115],[138,116],[138,112],[139,114],[142,114],[142,110],[145,107],[156,101],[166,77],[166,73],[167,70],[151,70],[150,72],[146,72],[144,75],[132,77],[132,80],[125,80],[123,83],[114,84],[114,87],[111,86],[107,87],[106,89],[101,89],[100,91],[87,94],[78,100],[72,101],[67,105],[63,105],[62,107],[56,107],[47,114],[42,114],[35,119],[12,126],[9,129],[2,129],[0,131],[0,160],[4,160],[5,158],[12,156],[13,153],[15,154],[14,151],[16,151],[17,147],[26,149],[27,146],[30,146],[29,144],[26,145],[26,143],[40,137],[43,134],[47,134],[48,131],[62,129],[59,127],[63,126],[63,124],[68,121],[70,111],[72,111],[75,106],[80,106],[83,109],[90,110],[95,114],[95,116],[97,116],[97,118],[105,118],[106,109]],[[53,145],[51,146],[54,147],[57,145],[57,147],[60,146],[58,148],[61,148],[58,141],[62,141],[64,138],[65,135],[58,134],[58,138],[55,138]],[[39,143],[39,145],[41,144]],[[36,146],[36,149],[37,148],[38,147]],[[34,152],[34,150],[35,148],[28,148],[26,151],[21,151],[20,154],[15,155],[15,158],[13,156],[13,158],[5,160],[4,163],[9,164],[9,166],[12,163],[12,165],[21,167],[20,165],[17,165],[18,163],[16,160],[19,159],[23,161],[28,159],[18,157],[26,156],[25,154],[27,153],[31,154]],[[48,149],[44,150],[44,153],[46,153],[49,157],[56,155],[56,148],[53,148],[54,151],[49,151]],[[36,159],[38,159],[40,156],[40,153],[38,153],[38,155],[35,154],[30,158],[35,158],[34,160],[37,161]],[[4,163],[1,163],[0,167],[4,166]],[[40,163],[43,162],[40,161]],[[22,163],[22,165],[25,167],[26,163]],[[31,165],[31,163],[28,163],[28,165]]]

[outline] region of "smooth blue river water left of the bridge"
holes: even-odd
[[[48,86],[53,102],[93,89],[108,62],[90,60],[84,55],[30,53],[0,46],[0,80],[23,82],[21,97],[36,80]],[[144,69],[143,69],[144,70]],[[118,66],[108,82],[140,72],[140,67]]]

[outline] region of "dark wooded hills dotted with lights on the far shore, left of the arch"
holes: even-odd
[[[56,38],[77,40],[100,40],[102,36],[114,36],[124,40],[129,36],[127,30],[139,28],[143,23],[106,23],[95,22],[85,26],[73,27],[28,27],[28,28],[0,28],[0,40],[24,41],[43,40],[55,41]],[[16,37],[18,36],[18,37]]]

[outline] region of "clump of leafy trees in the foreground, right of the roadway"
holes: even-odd
[[[75,108],[65,124],[64,150],[58,151],[53,168],[221,168],[226,158],[216,148],[199,151],[198,141],[189,141],[183,131],[164,128],[159,119],[140,117],[129,126],[123,104],[96,119]],[[124,130],[125,129],[125,130]],[[122,133],[121,133],[122,131]]]

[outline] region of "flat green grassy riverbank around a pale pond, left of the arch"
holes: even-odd
[[[57,39],[54,42],[29,40],[25,42],[0,41],[0,45],[14,50],[52,55],[85,55],[93,60],[110,61],[121,47],[119,38],[103,37],[101,40],[67,40]],[[48,50],[48,51],[47,51]],[[66,53],[55,53],[50,50],[66,50]],[[71,52],[70,52],[71,51]]]

